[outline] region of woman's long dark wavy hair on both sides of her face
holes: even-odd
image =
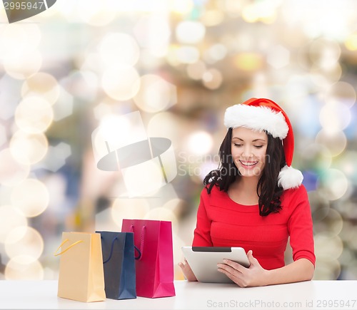
[[[266,163],[263,167],[261,177],[258,180],[256,192],[259,197],[259,215],[266,216],[270,213],[277,213],[281,210],[282,187],[278,187],[278,174],[281,168],[286,165],[283,145],[279,138],[273,138],[269,133],[268,145],[266,148]],[[226,137],[219,148],[220,165],[218,169],[212,170],[203,180],[208,194],[212,187],[217,186],[219,190],[228,191],[228,187],[241,177],[238,168],[233,162],[231,153],[232,128],[228,129]]]

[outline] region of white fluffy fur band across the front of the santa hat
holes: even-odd
[[[245,127],[253,130],[266,130],[274,138],[281,140],[288,134],[288,125],[283,113],[265,106],[233,105],[224,114],[226,128]]]

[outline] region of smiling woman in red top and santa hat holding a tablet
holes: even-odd
[[[218,264],[218,271],[238,286],[312,279],[311,210],[302,174],[291,167],[288,116],[273,101],[252,98],[228,108],[224,123],[221,165],[203,180],[192,245],[243,247],[250,267],[228,259]],[[285,265],[288,237],[293,262]],[[189,281],[196,281],[187,262],[179,266]]]

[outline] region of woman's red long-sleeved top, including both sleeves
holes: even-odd
[[[213,186],[211,194],[201,192],[193,246],[243,247],[253,250],[264,269],[283,267],[288,237],[293,260],[306,258],[315,265],[313,222],[306,188],[285,190],[281,211],[266,217],[259,215],[258,205],[239,205],[227,192]]]

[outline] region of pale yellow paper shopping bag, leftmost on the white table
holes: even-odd
[[[84,302],[106,299],[100,234],[63,232],[55,255],[60,255],[59,297]]]

